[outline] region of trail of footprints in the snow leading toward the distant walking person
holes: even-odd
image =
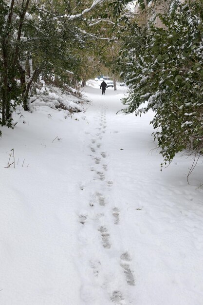
[[[82,226],[81,229],[83,230],[83,234],[84,230],[87,228],[87,235],[85,235],[87,241],[86,245],[83,245],[83,251],[87,251],[90,255],[90,260],[89,263],[87,262],[86,268],[89,267],[92,271],[88,273],[89,277],[87,283],[94,288],[92,288],[93,290],[89,293],[90,295],[87,298],[84,298],[83,294],[81,297],[87,305],[127,305],[129,302],[125,300],[122,287],[113,280],[111,272],[119,274],[123,283],[126,283],[125,291],[128,289],[128,286],[135,285],[133,271],[130,267],[131,259],[128,252],[124,252],[122,255],[119,255],[118,252],[117,257],[114,257],[113,259],[111,271],[107,264],[102,263],[105,260],[112,260],[111,251],[117,251],[117,245],[115,245],[114,242],[111,242],[111,240],[114,241],[119,235],[119,231],[116,231],[116,228],[120,225],[121,217],[119,208],[112,206],[111,204],[111,187],[113,186],[113,181],[111,180],[111,175],[109,173],[111,165],[109,164],[108,159],[109,153],[104,150],[105,134],[108,132],[106,112],[107,106],[104,105],[101,108],[100,116],[95,116],[94,129],[92,132],[85,132],[92,136],[90,143],[87,143],[90,151],[93,153],[91,155],[92,164],[90,167],[93,176],[89,186],[89,192],[92,193],[92,195],[87,203],[87,213],[80,213],[79,222]],[[101,128],[103,131],[101,131]],[[84,187],[82,186],[82,188]],[[89,212],[88,206],[90,209]],[[113,231],[111,231],[112,226],[115,228]],[[92,240],[95,242],[95,251],[93,253],[91,253],[90,248],[87,247],[87,245],[92,244]],[[86,250],[85,247],[87,247]],[[119,259],[120,265],[118,263]],[[95,282],[95,278],[98,282]],[[82,286],[82,291],[85,289],[88,289],[88,286],[84,284]],[[101,295],[107,294],[109,303],[102,303],[103,300],[99,299],[97,293],[94,293],[94,290],[97,292],[99,291]]]

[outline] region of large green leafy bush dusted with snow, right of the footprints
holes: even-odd
[[[124,111],[154,111],[166,164],[183,150],[203,154],[203,3],[173,0],[160,19],[162,28],[130,23],[120,60],[130,87]]]

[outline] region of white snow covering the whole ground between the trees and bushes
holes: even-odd
[[[203,305],[202,163],[190,185],[189,157],[160,172],[153,114],[89,84],[85,112],[2,130],[0,304]]]

